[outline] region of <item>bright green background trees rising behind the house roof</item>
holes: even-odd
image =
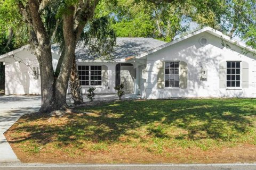
[[[96,12],[110,16],[117,37],[152,37],[164,41],[171,41],[189,28],[184,13],[179,3],[152,5],[135,0],[118,0],[115,7],[102,1]]]

